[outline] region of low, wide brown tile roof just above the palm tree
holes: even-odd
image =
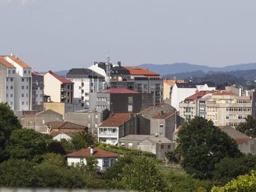
[[[73,130],[88,130],[88,127],[83,125],[78,125],[71,122],[48,122],[45,123],[47,126],[51,127],[52,129],[73,129]]]

